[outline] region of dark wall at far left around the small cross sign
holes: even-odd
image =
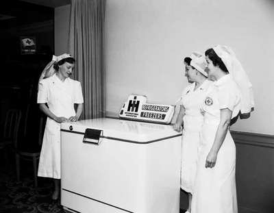
[[[4,19],[3,15],[10,18]],[[21,53],[21,36],[36,39],[35,54]],[[0,39],[1,129],[5,113],[10,108],[20,108],[23,112],[22,125],[28,118],[29,129],[35,129],[36,118],[40,114],[36,104],[38,77],[51,60],[54,49],[54,8],[7,1],[0,7]],[[28,115],[27,108],[32,109]]]

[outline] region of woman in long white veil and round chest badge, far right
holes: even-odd
[[[201,106],[203,126],[192,213],[237,213],[236,147],[229,127],[233,118],[247,118],[253,110],[251,83],[229,47],[208,49],[206,61],[214,84]]]

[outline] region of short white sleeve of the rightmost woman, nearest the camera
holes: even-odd
[[[233,89],[229,89],[228,87],[219,88],[219,109],[228,108],[233,112],[238,99],[237,95]]]

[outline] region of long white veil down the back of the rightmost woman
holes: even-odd
[[[249,81],[247,73],[242,68],[242,64],[240,64],[234,51],[232,51],[230,47],[225,45],[216,45],[213,49],[227,67],[227,71],[232,76],[240,90],[240,112],[232,118],[232,125],[237,121],[238,117],[241,119],[249,118],[250,112],[254,110],[252,84]]]

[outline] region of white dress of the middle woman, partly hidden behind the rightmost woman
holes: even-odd
[[[200,106],[205,99],[206,90],[212,82],[206,80],[197,88],[195,83],[187,86],[181,97],[181,104],[184,106],[184,129],[182,135],[182,168],[181,188],[192,193],[196,177],[197,147],[199,144],[199,131],[203,124],[203,115]]]

